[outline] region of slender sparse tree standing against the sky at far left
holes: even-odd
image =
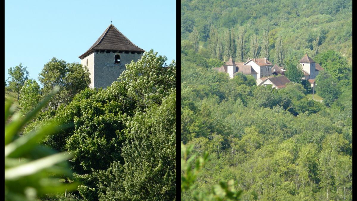
[[[20,91],[25,81],[29,78],[27,67],[22,67],[22,64],[10,67],[8,70],[11,80],[9,81],[9,89],[17,93],[17,100],[20,99]],[[53,89],[53,87],[52,87]]]

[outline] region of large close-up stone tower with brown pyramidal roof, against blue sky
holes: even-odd
[[[90,88],[106,88],[125,70],[125,64],[137,62],[145,50],[127,39],[110,24],[97,41],[80,55],[81,64],[89,69]]]

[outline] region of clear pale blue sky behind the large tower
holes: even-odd
[[[110,20],[135,45],[176,61],[176,1],[5,0],[5,79],[20,62],[37,82],[52,57],[80,63]]]

